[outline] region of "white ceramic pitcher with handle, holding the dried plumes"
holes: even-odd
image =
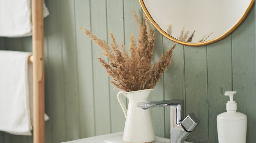
[[[147,102],[150,91],[145,89],[131,92],[120,91],[117,99],[126,118],[123,140],[127,143],[150,143],[155,141],[155,132],[149,109],[144,110],[136,106],[136,102]],[[128,111],[121,100],[121,94],[129,99]]]

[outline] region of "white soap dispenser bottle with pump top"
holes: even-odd
[[[217,130],[219,143],[246,143],[247,116],[236,112],[237,104],[233,101],[236,91],[226,91],[229,96],[227,112],[217,116]]]

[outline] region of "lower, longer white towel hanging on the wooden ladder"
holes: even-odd
[[[33,78],[32,63],[28,63],[31,54],[0,50],[0,131],[32,135]]]

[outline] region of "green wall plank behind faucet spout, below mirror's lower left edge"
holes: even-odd
[[[174,44],[175,42],[163,37],[164,51]],[[164,99],[181,99],[185,103],[184,48],[180,44],[176,45],[172,63],[164,72]],[[165,137],[170,138],[170,107],[165,107]]]

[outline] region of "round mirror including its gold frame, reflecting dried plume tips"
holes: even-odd
[[[139,1],[161,34],[188,46],[209,45],[227,37],[254,6],[254,0]]]

